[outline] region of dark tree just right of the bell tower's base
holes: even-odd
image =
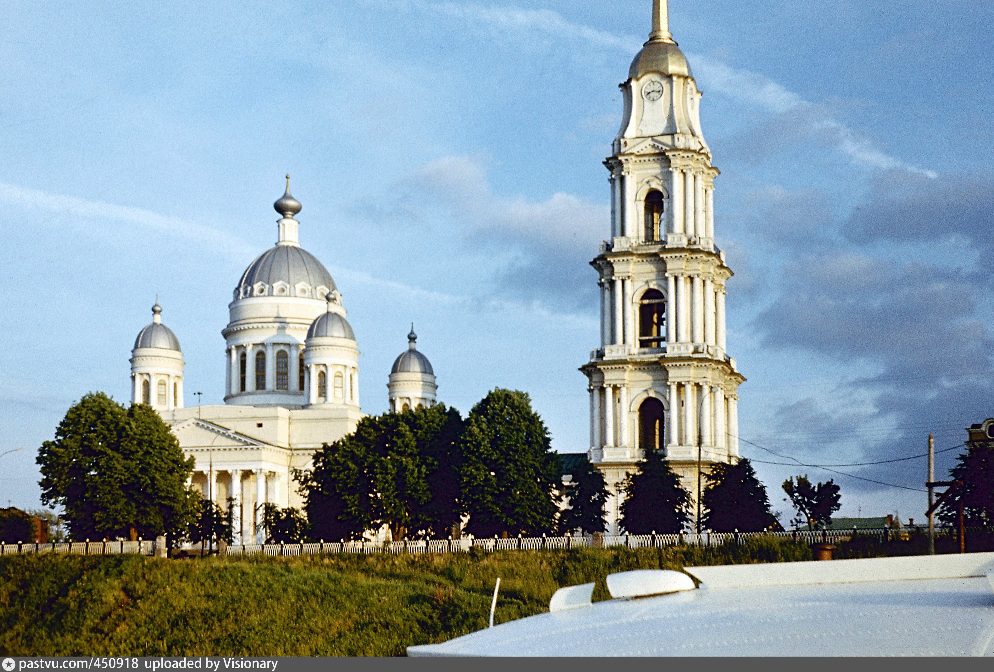
[[[779,528],[769,508],[766,486],[759,482],[747,459],[716,464],[705,475],[701,498],[702,523],[715,532],[762,532]]]

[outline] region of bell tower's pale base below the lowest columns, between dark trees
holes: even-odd
[[[606,451],[606,453],[605,453]],[[629,457],[621,457],[619,453],[627,453]],[[670,466],[680,477],[680,484],[690,493],[691,497],[691,525],[696,525],[697,512],[697,487],[698,487],[698,460],[697,446],[676,445],[667,449]],[[612,454],[614,454],[614,458]],[[610,448],[592,448],[587,451],[587,458],[593,463],[604,476],[604,483],[607,486],[607,502],[604,506],[604,531],[609,535],[622,534],[621,504],[624,502],[624,480],[629,474],[638,471],[638,463],[642,460],[642,451],[637,448],[623,448],[612,446]],[[701,454],[701,488],[707,485],[705,478],[711,467],[720,462],[728,462],[735,459],[735,455],[730,455],[724,448],[705,447]]]

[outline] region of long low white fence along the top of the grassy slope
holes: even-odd
[[[907,533],[907,531],[904,531]],[[566,537],[506,537],[493,539],[419,539],[399,542],[320,542],[307,544],[246,544],[228,546],[229,556],[313,556],[322,554],[368,554],[368,553],[467,553],[475,548],[479,551],[540,551],[553,549],[578,549],[623,546],[629,549],[666,548],[673,546],[716,547],[727,543],[742,543],[747,539],[777,538],[790,539],[802,544],[827,542],[838,544],[853,538],[853,535],[866,538],[889,539],[903,534],[902,531],[880,530],[828,530],[793,532],[704,532],[671,535],[585,535]],[[936,530],[945,535],[947,530]],[[107,542],[67,542],[52,544],[4,544],[0,542],[0,555],[17,554],[73,554],[73,555],[114,555],[140,554],[155,555],[154,541],[107,541]]]

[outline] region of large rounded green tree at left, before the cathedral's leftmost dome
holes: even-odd
[[[148,406],[83,396],[37,462],[42,501],[63,507],[75,539],[182,537],[196,515],[198,495],[186,486],[194,459]]]

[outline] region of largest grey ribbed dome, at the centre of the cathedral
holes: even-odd
[[[335,281],[331,273],[317,257],[303,248],[290,245],[277,245],[259,254],[248,264],[246,271],[239,280],[238,295],[248,297],[253,294],[253,287],[258,282],[266,285],[265,294],[272,295],[272,285],[285,282],[287,294],[290,296],[306,296],[308,298],[324,298],[324,292],[335,289]],[[307,289],[301,293],[297,285],[307,284]],[[318,288],[324,291],[318,293]]]

